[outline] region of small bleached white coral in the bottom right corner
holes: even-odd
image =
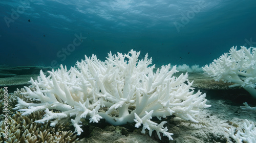
[[[242,143],[254,143],[256,142],[256,128],[253,123],[250,123],[248,120],[245,120],[243,127],[240,129],[234,128],[224,128],[228,132],[229,136],[234,139],[234,141]]]

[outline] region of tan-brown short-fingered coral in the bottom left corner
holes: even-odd
[[[66,125],[60,124],[55,127],[50,127],[50,123],[38,124],[34,120],[41,118],[43,112],[36,112],[28,116],[22,116],[19,112],[9,116],[8,139],[9,143],[23,143],[23,142],[76,142],[78,138],[73,135],[72,131],[64,131]],[[4,141],[5,124],[0,122],[0,142]],[[68,129],[68,128],[67,128]]]

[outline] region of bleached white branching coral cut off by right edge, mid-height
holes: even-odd
[[[224,53],[203,70],[216,81],[236,83],[229,87],[241,86],[256,98],[256,48],[241,46],[241,50],[231,47],[229,53]]]

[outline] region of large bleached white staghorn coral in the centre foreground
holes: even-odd
[[[23,115],[46,110],[47,115],[36,122],[54,120],[51,126],[61,118],[74,116],[71,121],[78,135],[83,132],[81,118],[96,123],[104,118],[112,125],[137,122],[136,127],[143,124],[142,132],[148,129],[151,135],[156,130],[158,135],[163,133],[172,139],[172,133],[163,127],[165,122],[157,125],[150,119],[174,114],[197,122],[193,117],[199,109],[210,105],[206,105],[205,94],[194,93],[187,74],[173,76],[176,66],[169,70],[168,64],[153,73],[152,59],[146,54],[144,59],[138,60],[139,54],[133,50],[124,55],[110,52],[105,61],[100,61],[96,55],[86,56],[86,60],[77,62],[70,70],[61,65],[60,69],[49,71],[48,77],[41,71],[37,80],[31,79],[36,91],[26,87],[27,92],[23,93],[41,103],[18,99],[15,109],[23,111]],[[53,113],[52,109],[60,113]]]

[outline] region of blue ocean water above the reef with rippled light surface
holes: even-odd
[[[256,46],[256,1],[0,1],[0,65],[74,66],[131,49],[156,65],[203,66]]]

